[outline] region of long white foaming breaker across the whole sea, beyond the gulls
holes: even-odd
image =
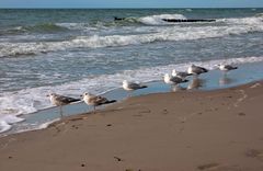
[[[228,19],[229,22],[236,20]],[[240,21],[240,20],[239,20]],[[153,42],[191,41],[201,38],[224,37],[253,32],[263,32],[263,24],[241,19],[247,24],[222,26],[173,26],[156,30],[156,33],[135,35],[92,35],[77,36],[70,41],[39,43],[0,43],[0,57],[34,55],[39,53],[75,49],[140,45]],[[254,24],[252,24],[254,23]]]

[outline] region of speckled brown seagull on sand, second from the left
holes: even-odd
[[[83,101],[85,102],[85,104],[93,106],[93,112],[95,112],[95,106],[98,106],[98,105],[116,102],[116,100],[111,100],[110,101],[104,96],[94,95],[94,94],[91,94],[91,93],[88,93],[88,92],[84,92],[83,95],[81,95],[81,96],[83,98]]]

